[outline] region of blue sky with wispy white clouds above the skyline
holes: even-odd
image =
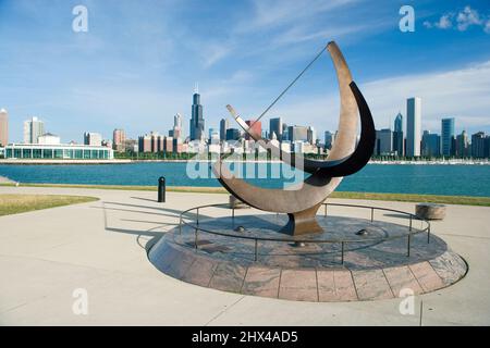
[[[72,30],[72,9],[88,10],[88,32]],[[399,10],[415,10],[402,33]],[[62,141],[84,130],[110,138],[167,133],[188,119],[199,83],[206,127],[231,103],[253,117],[328,41],[335,40],[378,128],[422,98],[422,128],[490,132],[488,1],[149,1],[0,0],[0,108],[10,140],[36,115]],[[335,129],[339,98],[327,54],[265,116]]]

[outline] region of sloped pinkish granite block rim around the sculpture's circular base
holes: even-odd
[[[434,236],[434,238],[437,238]],[[333,302],[393,299],[404,290],[426,294],[460,281],[465,261],[451,250],[429,261],[365,270],[346,265],[289,268],[224,260],[209,252],[161,238],[148,257],[161,272],[183,282],[243,295],[295,301]],[[236,256],[235,256],[236,258]],[[417,259],[415,259],[417,260]],[[405,293],[406,294],[406,293]]]

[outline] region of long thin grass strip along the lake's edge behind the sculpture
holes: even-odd
[[[0,184],[0,186],[14,186],[13,184]],[[124,186],[124,185],[69,185],[69,184],[21,184],[21,186],[35,187],[75,187],[94,189],[123,189],[156,191],[156,186]],[[169,186],[168,191],[196,192],[196,194],[228,194],[223,187],[188,187]],[[490,197],[469,196],[437,196],[437,195],[408,195],[408,194],[375,194],[375,192],[343,192],[334,191],[331,198],[385,200],[401,202],[432,202],[444,204],[483,206],[490,207]]]

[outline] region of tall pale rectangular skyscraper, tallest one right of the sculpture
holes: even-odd
[[[406,100],[406,156],[420,156],[420,123],[421,99],[419,97]]]

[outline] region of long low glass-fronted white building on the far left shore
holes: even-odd
[[[5,159],[112,160],[114,152],[102,146],[11,144],[4,148]]]

